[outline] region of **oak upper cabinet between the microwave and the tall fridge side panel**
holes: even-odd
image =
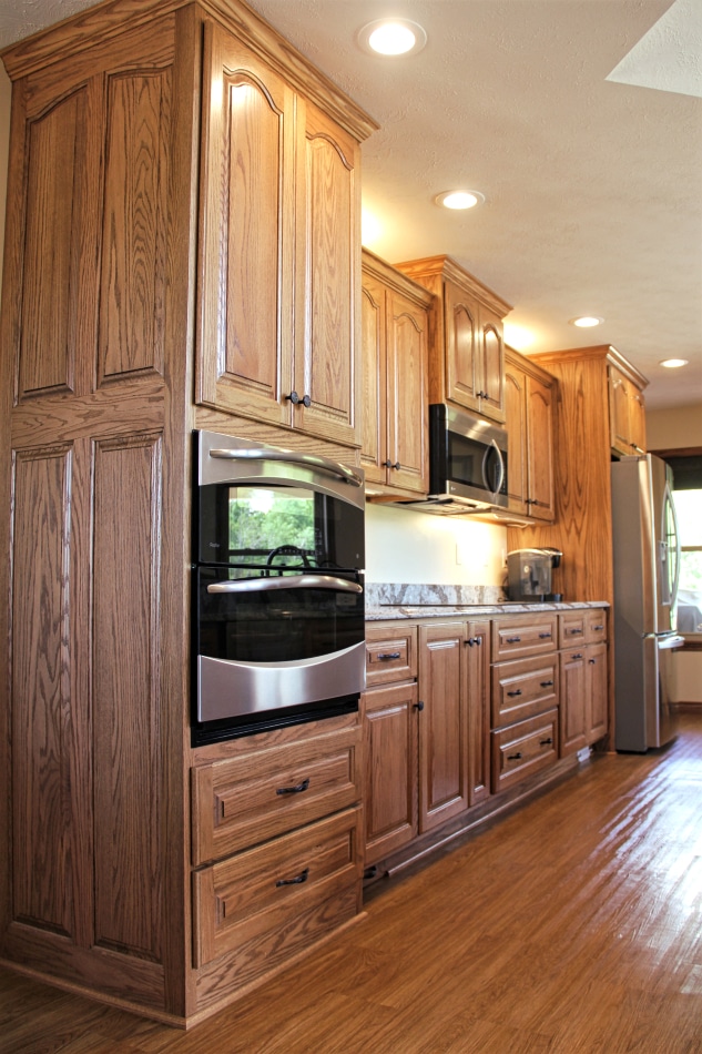
[[[557,382],[512,348],[505,351],[509,509],[552,523]]]

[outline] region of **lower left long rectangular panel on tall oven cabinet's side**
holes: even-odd
[[[71,452],[18,454],[12,550],[16,920],[72,935],[69,582]]]

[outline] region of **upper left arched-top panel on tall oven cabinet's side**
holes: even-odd
[[[87,107],[83,88],[28,122],[20,399],[74,388]]]

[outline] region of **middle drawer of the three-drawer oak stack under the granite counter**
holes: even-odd
[[[492,667],[492,728],[503,728],[558,706],[558,653]]]

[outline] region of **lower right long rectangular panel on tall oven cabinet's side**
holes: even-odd
[[[160,503],[157,436],[95,445],[95,942],[156,961],[163,922]]]

